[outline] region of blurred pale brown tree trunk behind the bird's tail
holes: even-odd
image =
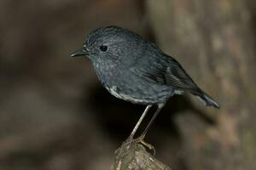
[[[242,0],[148,0],[157,44],[222,106],[193,105],[177,116],[189,169],[256,169],[255,51],[251,14]],[[254,46],[255,47],[255,46]]]

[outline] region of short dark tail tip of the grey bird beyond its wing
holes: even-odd
[[[204,105],[212,106],[217,109],[220,108],[218,103],[214,99],[212,99],[208,94],[203,92],[201,89],[196,90],[196,92],[191,92],[191,94],[194,94],[195,96],[197,96],[198,99],[200,99],[201,102],[204,103]]]

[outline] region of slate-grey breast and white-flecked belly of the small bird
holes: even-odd
[[[134,75],[130,70],[116,65],[94,65],[96,75],[104,88],[119,99],[136,104],[163,103],[172,94],[172,89]]]

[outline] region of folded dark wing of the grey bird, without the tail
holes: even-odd
[[[143,64],[143,65],[141,65]],[[141,65],[138,67],[138,65]],[[177,90],[197,91],[199,88],[183,67],[171,56],[146,63],[140,63],[131,70],[149,82],[170,86]]]

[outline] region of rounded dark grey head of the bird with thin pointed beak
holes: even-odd
[[[137,34],[119,27],[101,27],[91,31],[85,38],[83,48],[79,49],[71,56],[86,55],[92,62],[125,63],[126,58],[137,56],[142,48],[139,46],[143,38]]]

